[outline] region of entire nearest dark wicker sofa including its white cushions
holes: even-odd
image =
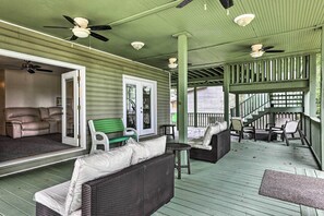
[[[75,160],[71,181],[35,193],[37,216],[151,215],[175,193],[166,136]]]

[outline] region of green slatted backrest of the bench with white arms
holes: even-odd
[[[96,119],[94,120],[96,131],[104,133],[116,133],[124,131],[124,125],[121,119]]]

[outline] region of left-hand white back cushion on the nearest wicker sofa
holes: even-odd
[[[132,148],[125,145],[112,148],[110,152],[100,152],[77,158],[67,196],[65,215],[81,208],[83,183],[129,167],[132,153]]]

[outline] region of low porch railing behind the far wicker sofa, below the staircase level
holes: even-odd
[[[224,121],[224,113],[216,112],[197,112],[197,125],[196,127],[207,127],[211,123],[215,123],[216,121]],[[171,122],[177,123],[177,113],[171,112]],[[188,125],[194,125],[194,112],[188,112]]]

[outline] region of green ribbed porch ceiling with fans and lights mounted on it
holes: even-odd
[[[172,35],[181,32],[192,35],[188,59],[190,71],[195,72],[226,62],[252,61],[250,47],[257,43],[286,50],[281,55],[320,49],[323,0],[233,0],[229,14],[218,0],[194,0],[177,9],[181,1],[28,0],[28,3],[22,3],[11,0],[1,1],[0,19],[59,38],[70,38],[72,32],[43,26],[72,27],[62,15],[86,17],[89,25],[109,24],[111,31],[96,32],[109,41],[88,37],[75,43],[166,70],[168,59],[177,57],[177,38]],[[204,10],[205,3],[207,10]],[[233,19],[243,13],[254,13],[255,19],[250,25],[240,27]],[[141,50],[133,49],[130,44],[135,40],[145,46]],[[262,58],[275,55],[278,53],[265,53]]]

